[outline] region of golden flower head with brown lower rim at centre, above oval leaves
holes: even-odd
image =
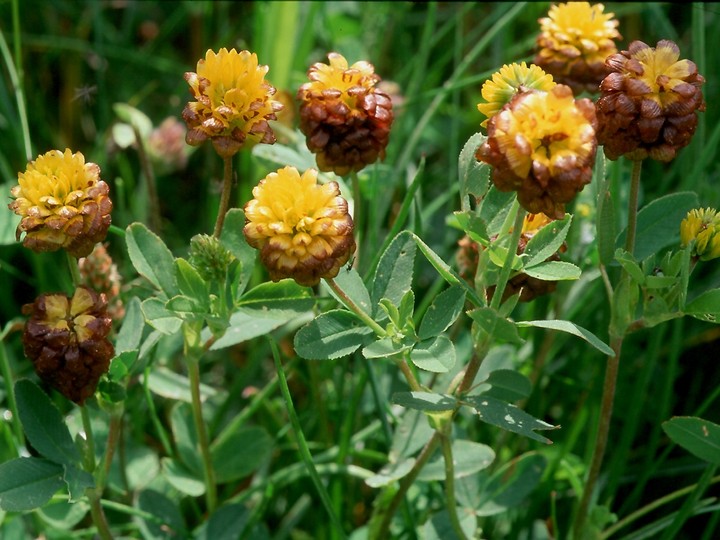
[[[337,182],[317,183],[317,171],[294,167],[267,175],[245,205],[243,233],[260,250],[270,278],[313,286],[337,276],[355,252],[353,221]]]

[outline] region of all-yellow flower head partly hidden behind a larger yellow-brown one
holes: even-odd
[[[487,127],[490,117],[497,114],[515,94],[529,90],[547,92],[555,84],[552,75],[548,75],[535,64],[530,64],[529,67],[525,62],[505,64],[483,84],[482,97],[486,103],[479,103],[478,111],[487,118],[480,125]]]

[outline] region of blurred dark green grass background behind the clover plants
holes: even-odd
[[[112,138],[113,125],[119,122],[114,104],[136,107],[156,126],[169,116],[179,119],[190,98],[183,74],[195,71],[207,49],[221,47],[256,52],[260,63],[270,66],[267,79],[292,104],[297,88],[306,80],[307,68],[326,61],[328,52],[337,51],[350,62],[371,62],[384,81],[396,85],[392,87],[396,120],[387,159],[364,172],[362,178],[364,189],[371,190],[378,204],[372,220],[379,242],[424,160],[411,224],[433,249],[452,261],[459,232],[446,226],[446,219],[459,206],[458,154],[469,136],[479,131],[483,119],[476,109],[482,83],[504,63],[532,60],[537,19],[547,13],[550,4],[24,0],[17,5],[19,11],[14,13],[11,2],[0,0],[0,30],[11,58],[19,60],[32,149],[26,156],[8,58],[4,58],[0,70],[0,189],[6,194],[4,201],[9,202],[10,187],[28,157],[69,147],[100,165],[103,179],[111,186],[114,225],[124,229],[135,220],[147,221],[137,153],[119,148]],[[720,7],[714,3],[610,2],[606,11],[614,12],[620,21],[624,39],[618,43],[619,49],[635,39],[651,46],[660,39],[672,39],[680,46],[681,57],[695,61],[707,80],[703,88],[707,111],[700,115],[695,139],[670,164],[645,163],[641,206],[663,194],[694,191],[702,206],[717,208]],[[492,33],[500,25],[500,31]],[[491,40],[482,53],[468,61],[468,55],[488,35]],[[285,121],[292,122],[292,107],[285,114]],[[284,142],[297,144],[292,138]],[[297,146],[303,144],[300,141]],[[236,158],[239,184],[235,206],[242,206],[257,181],[274,168],[277,165],[241,152]],[[621,160],[611,164],[609,171],[617,188],[616,208],[624,208],[629,165]],[[186,249],[192,235],[211,230],[221,177],[222,162],[210,145],[192,153],[182,170],[158,175],[163,238],[177,255]],[[590,186],[577,201],[568,254],[583,267],[584,277],[576,283],[562,283],[551,299],[523,306],[520,316],[540,319],[552,314],[599,332],[607,328],[604,291],[591,247],[593,194]],[[618,221],[622,224],[623,220],[620,211]],[[69,284],[64,273],[57,271],[64,266],[63,255],[36,255],[22,248],[15,243],[16,223],[3,202],[3,325],[18,317],[20,307],[37,294],[65,289]],[[111,234],[109,243],[121,272],[128,275],[122,239]],[[417,291],[431,297],[436,278],[428,269],[423,272]],[[691,297],[692,290],[719,287],[720,268],[714,263],[700,265],[692,280]],[[546,515],[558,483],[566,487],[568,481],[572,483],[578,469],[563,469],[558,466],[561,460],[577,464],[582,458],[587,462],[585,453],[590,446],[586,441],[596,422],[603,373],[602,358],[580,342],[538,333],[533,336],[526,347],[504,352],[513,355],[515,364],[528,374],[533,372],[533,364],[542,366],[526,408],[563,429],[552,432],[553,446],[540,450],[555,465],[532,504],[522,510],[528,516]],[[9,343],[16,374],[29,373],[29,363],[22,361],[19,335],[11,336]],[[658,464],[667,444],[660,423],[671,415],[695,414],[720,422],[720,331],[709,323],[676,320],[633,334],[623,352],[614,439],[606,461],[606,492],[614,496],[614,507],[627,513],[652,500],[653,494],[691,483],[699,474],[701,465],[683,452],[672,451]],[[248,364],[243,361],[242,365]],[[262,376],[258,363],[249,365],[253,370],[234,383],[232,366],[216,366],[214,381],[225,381],[228,392],[239,395],[243,385]],[[338,370],[344,369],[343,364],[327,363],[321,373],[312,376],[338,382],[342,380]],[[328,414],[342,407],[343,392],[348,390],[340,385],[327,397]],[[302,394],[299,400],[302,404]],[[272,419],[273,414],[277,411],[269,410],[267,417]],[[528,440],[503,437],[486,426],[472,431],[476,440],[505,443],[498,447],[503,460],[534,447]],[[352,499],[348,502],[355,504],[346,519],[361,522],[366,516],[371,497],[364,491],[358,487],[357,493],[346,494]]]

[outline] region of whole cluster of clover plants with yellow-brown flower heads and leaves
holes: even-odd
[[[523,9],[499,9],[463,69]],[[40,265],[62,254],[68,277],[24,300],[0,336],[0,532],[675,538],[717,511],[701,497],[719,480],[720,425],[700,414],[662,424],[704,463],[680,490],[621,508],[606,459],[628,342],[646,332],[658,350],[664,334],[651,332],[720,314],[720,289],[693,287],[720,257],[720,215],[687,191],[640,203],[643,168],[694,143],[705,78],[669,39],[618,49],[625,30],[602,4],[553,5],[538,22],[534,58],[483,76],[483,118],[453,155],[450,249],[418,203],[431,157],[390,151],[402,96],[337,51],[292,92],[255,52],[208,49],[184,74],[184,125],[154,128],[118,104],[113,141],[137,155],[147,205],[124,228],[112,224],[121,179],[77,148],[29,158],[8,190],[15,241]],[[194,150],[221,164],[216,220],[172,245],[158,179]],[[239,178],[248,159],[274,166]],[[381,184],[402,175],[391,208]],[[234,199],[238,184],[249,189]],[[580,295],[600,297],[599,315],[580,316]],[[11,363],[14,337],[25,359]],[[604,361],[604,383],[571,398],[593,401],[592,421],[579,412],[561,428],[531,400],[563,347]],[[251,361],[257,385],[242,375]],[[21,362],[37,377],[14,373]],[[589,441],[584,456],[567,441],[552,450],[562,430]],[[300,482],[297,500],[283,493]]]

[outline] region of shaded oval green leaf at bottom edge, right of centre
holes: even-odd
[[[540,483],[547,460],[538,453],[529,452],[504,464],[488,476],[479,475],[476,493],[480,494],[475,506],[478,516],[494,516],[521,505]]]

